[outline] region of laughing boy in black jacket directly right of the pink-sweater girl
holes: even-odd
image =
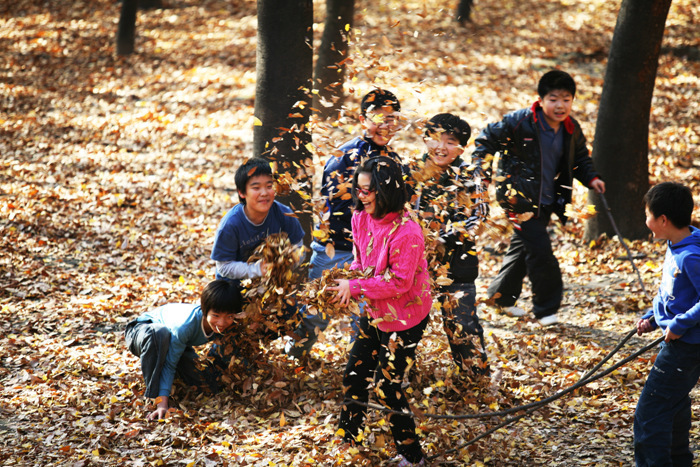
[[[484,330],[476,314],[474,281],[479,275],[479,259],[473,238],[480,221],[488,215],[488,202],[480,167],[467,166],[460,157],[470,135],[469,124],[456,115],[442,113],[428,121],[424,137],[428,153],[416,176],[432,177],[419,185],[415,204],[426,222],[438,223],[444,242],[441,261],[449,266],[448,278],[453,282],[440,288],[441,308],[452,359],[460,369],[482,375],[488,369]],[[460,202],[460,194],[471,198],[469,206]],[[450,303],[450,295],[456,305]],[[479,350],[474,339],[479,340]]]

